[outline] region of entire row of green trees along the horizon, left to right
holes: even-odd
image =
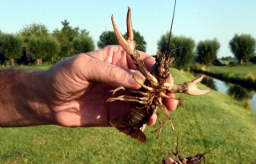
[[[158,51],[167,50],[170,33],[163,34],[158,40]],[[127,36],[127,34],[125,34]],[[134,30],[138,50],[146,51],[144,37]],[[104,31],[99,36],[98,48],[107,45],[118,45],[114,31]],[[254,61],[255,38],[250,34],[235,34],[230,39],[230,50],[238,62]],[[172,56],[174,65],[178,68],[186,68],[194,62],[210,65],[216,60],[220,44],[216,38],[198,42],[185,36],[173,36],[171,38]],[[33,23],[25,26],[18,34],[6,34],[0,31],[0,63],[10,62],[10,65],[27,64],[36,62],[42,65],[42,61],[57,62],[61,58],[74,54],[94,50],[94,40],[87,30],[72,27],[66,20],[62,22],[62,28],[52,33],[42,24]],[[175,49],[175,50],[174,50]]]

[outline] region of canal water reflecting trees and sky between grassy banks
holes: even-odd
[[[214,90],[229,94],[232,98],[241,102],[246,109],[252,110],[254,114],[256,114],[256,90],[248,89],[245,86],[239,86],[237,84],[223,82],[222,80],[210,76],[206,76],[202,83]]]

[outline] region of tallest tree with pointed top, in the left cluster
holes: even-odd
[[[54,36],[58,39],[58,42],[61,45],[61,50],[59,52],[60,57],[70,56],[70,54],[73,54],[74,49],[71,42],[78,35],[79,28],[73,28],[67,20],[62,22],[62,30],[54,30]]]

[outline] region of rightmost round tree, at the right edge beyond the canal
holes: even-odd
[[[230,50],[242,65],[243,61],[248,62],[254,57],[255,39],[250,34],[235,34],[230,40]]]

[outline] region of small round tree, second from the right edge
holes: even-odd
[[[217,58],[217,51],[220,47],[220,44],[216,38],[213,40],[205,40],[198,42],[197,54],[199,61],[210,65],[214,62],[214,59]]]

